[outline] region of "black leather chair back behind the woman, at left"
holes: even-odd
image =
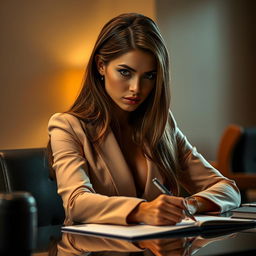
[[[45,148],[0,150],[0,191],[28,191],[37,203],[38,226],[64,221],[56,181],[49,177]]]

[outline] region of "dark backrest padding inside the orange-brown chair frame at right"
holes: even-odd
[[[256,128],[244,128],[235,144],[231,169],[233,172],[256,173]]]

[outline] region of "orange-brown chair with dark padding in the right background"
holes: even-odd
[[[246,191],[256,189],[256,128],[229,125],[212,163],[224,176],[235,180],[246,201]]]

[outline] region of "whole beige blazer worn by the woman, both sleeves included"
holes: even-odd
[[[133,176],[113,132],[94,146],[89,139],[93,127],[66,113],[53,115],[48,129],[58,193],[66,212],[65,224],[127,224],[128,214],[140,202],[160,194],[152,179],[157,177],[164,182],[163,178],[156,165],[147,160],[145,190],[142,198],[136,197]],[[240,193],[234,181],[214,169],[191,146],[176,123],[175,138],[182,166],[180,185],[190,194],[215,202],[221,212],[239,206]]]

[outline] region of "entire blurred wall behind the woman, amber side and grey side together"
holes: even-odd
[[[0,148],[44,147],[47,122],[75,99],[103,24],[156,20],[170,50],[172,109],[214,159],[224,127],[256,125],[254,0],[2,0]]]

